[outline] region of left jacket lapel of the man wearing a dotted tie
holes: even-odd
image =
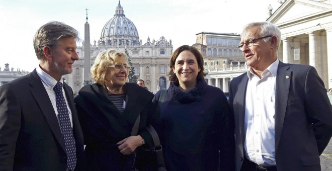
[[[35,98],[37,104],[39,105],[40,110],[42,111],[45,119],[50,126],[55,138],[58,140],[59,144],[65,150],[65,145],[63,141],[63,137],[61,134],[60,126],[58,119],[56,118],[56,114],[54,112],[54,108],[52,103],[48,97],[48,94],[44,88],[44,85],[37,75],[36,70],[31,72],[30,74],[30,91],[32,96]]]

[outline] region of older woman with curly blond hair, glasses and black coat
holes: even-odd
[[[152,162],[142,155],[153,147],[145,129],[154,118],[153,94],[126,82],[129,69],[125,53],[101,52],[91,68],[96,83],[83,87],[74,99],[84,134],[87,170],[132,170],[143,166],[144,170],[152,170]],[[136,120],[138,133],[133,135]]]

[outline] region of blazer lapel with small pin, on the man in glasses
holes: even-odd
[[[276,106],[275,106],[275,150],[278,150],[278,144],[281,138],[282,127],[286,114],[288,94],[292,73],[288,69],[289,65],[279,61],[276,78]]]

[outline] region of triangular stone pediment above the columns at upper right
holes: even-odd
[[[331,8],[332,6],[329,4],[310,0],[288,0],[281,5],[267,21],[279,25],[281,23],[309,17]]]

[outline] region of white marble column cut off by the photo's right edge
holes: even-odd
[[[326,30],[326,47],[327,48],[327,66],[328,66],[328,85],[325,88],[332,88],[332,27],[325,28]]]

